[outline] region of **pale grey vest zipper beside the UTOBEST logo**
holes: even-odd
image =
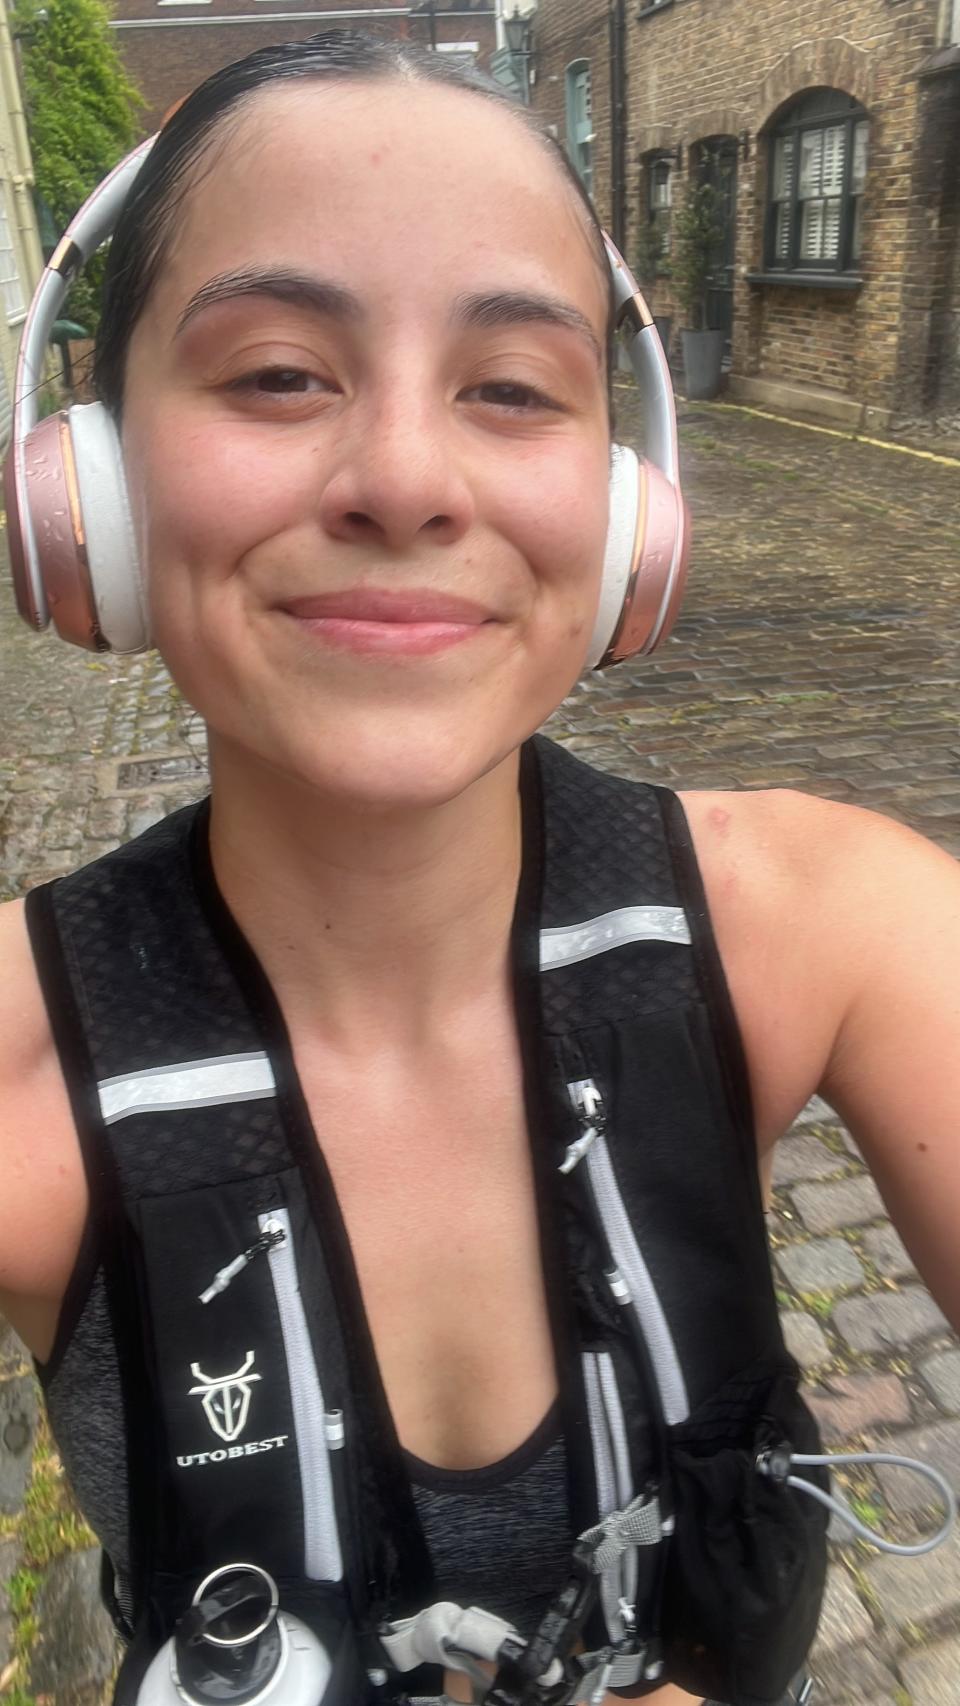
[[[309,1581],[339,1581],[343,1578],[343,1554],[329,1454],[343,1447],[343,1413],[324,1409],[310,1329],[300,1297],[290,1213],[286,1208],[271,1208],[264,1215],[257,1215],[257,1223],[263,1237],[271,1240],[266,1254],[290,1377],[293,1436],[304,1500],[304,1575]]]

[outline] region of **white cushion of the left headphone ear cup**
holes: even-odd
[[[143,652],[150,645],[147,597],[116,421],[102,403],[78,403],[67,423],[99,635],[111,652]]]

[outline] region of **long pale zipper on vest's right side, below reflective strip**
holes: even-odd
[[[653,1378],[660,1394],[663,1419],[668,1426],[685,1421],[691,1414],[687,1382],[677,1356],[677,1346],[670,1326],[663,1314],[663,1305],[656,1295],[650,1269],[643,1259],[634,1230],[614,1174],[614,1163],[607,1148],[607,1116],[604,1099],[593,1078],[576,1078],[568,1083],[566,1092],[581,1126],[578,1140],[593,1204],[607,1239],[617,1274],[629,1291],[629,1309],[633,1309],[639,1331],[650,1353]],[[573,1148],[573,1146],[571,1146]],[[568,1150],[570,1157],[570,1150]],[[621,1293],[622,1297],[622,1293]]]

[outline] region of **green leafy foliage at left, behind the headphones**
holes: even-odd
[[[46,14],[46,15],[41,15]],[[58,232],[136,142],[143,97],[130,80],[104,0],[17,0],[27,131],[38,200]],[[70,317],[99,319],[102,261],[70,293]]]

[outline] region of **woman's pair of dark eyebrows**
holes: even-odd
[[[179,316],[176,336],[189,322],[211,307],[215,302],[232,302],[237,297],[271,297],[292,307],[309,309],[327,319],[341,322],[360,322],[367,319],[367,309],[353,290],[327,278],[315,278],[310,273],[293,273],[286,268],[240,268],[234,273],[220,273],[210,278],[189,299]],[[525,290],[494,290],[476,295],[457,297],[452,324],[466,328],[488,326],[561,326],[583,338],[593,353],[597,367],[604,367],[604,351],[597,333],[587,314],[563,297],[539,295]]]

